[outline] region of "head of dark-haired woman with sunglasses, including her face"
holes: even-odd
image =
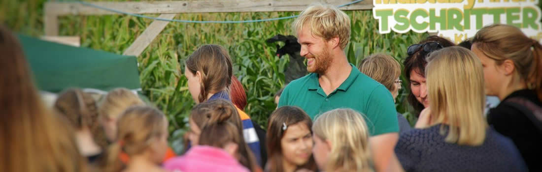
[[[407,49],[408,57],[404,61],[405,75],[409,80],[410,93],[408,102],[416,113],[420,113],[424,108],[429,107],[429,97],[427,96],[427,85],[425,85],[425,57],[430,52],[446,47],[452,47],[455,44],[446,38],[438,36],[429,36],[420,43],[410,45]]]

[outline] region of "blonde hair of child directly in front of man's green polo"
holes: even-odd
[[[362,115],[352,109],[335,109],[318,116],[313,133],[331,141],[324,171],[372,171],[369,128]]]

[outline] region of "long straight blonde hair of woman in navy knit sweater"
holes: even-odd
[[[425,67],[431,123],[449,125],[446,142],[480,145],[486,137],[485,90],[480,59],[462,47],[432,52]],[[446,133],[441,128],[441,134]]]

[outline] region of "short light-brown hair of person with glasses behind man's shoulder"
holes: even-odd
[[[365,57],[359,62],[359,71],[384,85],[388,90],[395,90],[395,80],[401,76],[401,65],[393,57],[378,53]]]

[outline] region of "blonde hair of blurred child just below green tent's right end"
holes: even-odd
[[[117,119],[124,110],[133,105],[145,105],[145,103],[132,91],[117,88],[107,93],[99,104],[98,111],[101,117]]]

